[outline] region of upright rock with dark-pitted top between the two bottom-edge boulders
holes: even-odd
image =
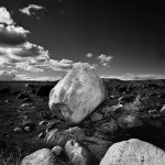
[[[74,165],[89,165],[90,155],[85,147],[81,147],[75,140],[65,144],[65,152]]]

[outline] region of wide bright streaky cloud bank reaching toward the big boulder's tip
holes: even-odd
[[[69,59],[55,61],[48,51],[32,43],[24,43],[14,47],[0,46],[0,65],[40,73],[44,70],[64,70],[72,68],[74,62]]]

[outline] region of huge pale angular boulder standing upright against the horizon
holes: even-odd
[[[87,65],[73,69],[51,90],[50,109],[68,124],[80,123],[106,98],[102,80]]]

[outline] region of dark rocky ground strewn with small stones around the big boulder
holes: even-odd
[[[69,153],[76,146],[90,157],[88,164],[99,165],[112,144],[130,139],[165,150],[165,80],[103,82],[106,100],[76,127],[48,109],[56,82],[1,82],[0,164],[19,165],[24,156],[47,148],[46,154],[54,153],[50,160],[67,165],[76,160]]]

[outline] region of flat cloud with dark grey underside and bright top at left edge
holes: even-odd
[[[22,26],[0,24],[0,44],[11,46],[19,45],[26,41],[26,34],[30,31],[24,30]]]

